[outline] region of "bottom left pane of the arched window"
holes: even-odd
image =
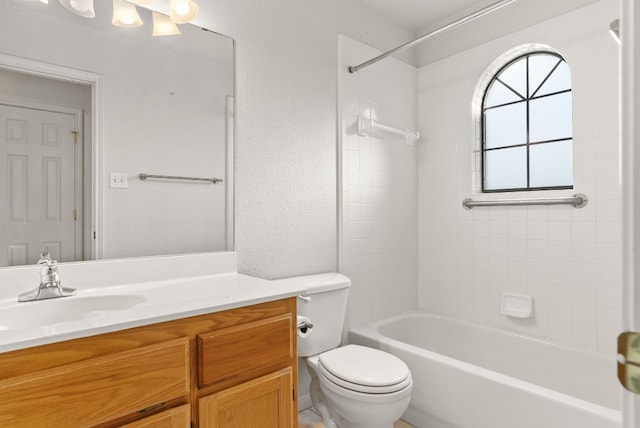
[[[527,187],[527,148],[490,150],[484,154],[485,190]]]

